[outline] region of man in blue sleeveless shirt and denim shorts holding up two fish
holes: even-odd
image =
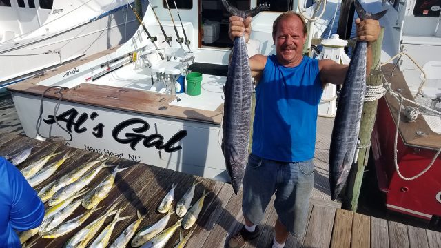
[[[251,21],[252,17],[230,17],[229,37],[245,35],[247,42]],[[378,39],[380,25],[373,19],[357,19],[356,27],[358,41],[367,41],[369,74],[371,43]],[[273,194],[278,219],[272,247],[283,248],[288,234],[296,238],[304,234],[314,187],[318,103],[325,85],[342,84],[348,71],[348,65],[302,54],[307,28],[295,12],[285,12],[274,21],[272,36],[275,55],[249,58],[256,110],[252,154],[243,178],[245,225],[229,240],[229,247],[243,247],[258,237],[258,224]]]

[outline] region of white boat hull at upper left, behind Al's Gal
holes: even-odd
[[[35,72],[125,43],[139,27],[127,3],[0,1],[0,89]]]

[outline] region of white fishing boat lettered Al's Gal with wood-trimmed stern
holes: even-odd
[[[140,27],[134,37],[119,48],[8,87],[26,135],[32,138],[61,135],[66,139],[72,135],[69,141],[72,147],[228,180],[220,149],[220,122],[227,58],[232,45],[227,38],[229,14],[219,5],[220,1],[201,1],[201,5],[199,2],[177,2],[182,25],[174,4],[170,6],[179,37],[184,37],[182,30],[185,30],[188,47],[185,41],[176,41],[167,6],[156,0],[152,5],[157,5],[154,10],[165,36],[172,37],[172,47],[164,42],[165,37],[150,5],[143,23],[152,39]],[[237,3],[243,4],[243,9],[257,4],[256,1]],[[297,6],[294,3],[294,7]],[[294,8],[292,2],[290,6]],[[328,1],[325,13],[314,22],[314,37],[320,37],[330,23],[336,6],[336,1]],[[312,8],[316,6],[305,14],[312,16]],[[250,55],[274,52],[272,23],[285,10],[260,12],[254,17]],[[215,12],[218,12],[216,17]],[[214,18],[220,19],[217,22]],[[205,32],[202,34],[201,30]],[[153,37],[157,38],[154,43]],[[161,60],[161,56],[170,61]],[[203,73],[200,95],[187,94],[192,86],[188,81],[187,92],[175,94],[181,87],[176,79],[188,70]],[[61,91],[62,99],[57,93],[59,89],[50,90],[54,86],[65,87]],[[56,118],[54,110],[57,110]],[[37,134],[37,128],[41,135]]]

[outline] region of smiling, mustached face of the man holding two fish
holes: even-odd
[[[276,56],[282,65],[296,65],[302,59],[306,35],[303,34],[302,21],[298,17],[288,17],[278,23],[274,45]]]

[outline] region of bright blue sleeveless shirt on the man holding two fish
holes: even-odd
[[[303,56],[288,68],[268,56],[256,87],[252,153],[285,162],[314,158],[322,92],[317,59]]]

